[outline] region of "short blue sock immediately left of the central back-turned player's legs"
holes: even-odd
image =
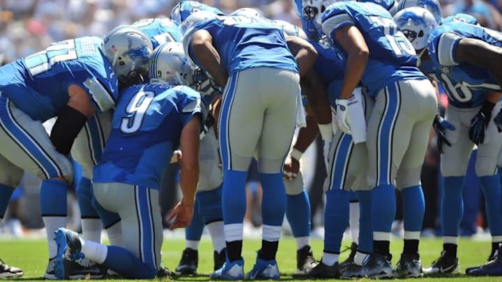
[[[197,193],[197,201],[199,201],[199,209],[204,224],[223,220],[221,197],[221,186],[211,191]]]

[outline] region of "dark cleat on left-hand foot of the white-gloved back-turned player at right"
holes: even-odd
[[[393,278],[393,267],[390,263],[391,256],[382,256],[378,253],[372,253],[370,259],[365,265],[356,265],[355,263],[349,265],[342,271],[342,278],[370,278],[370,279],[384,279]]]

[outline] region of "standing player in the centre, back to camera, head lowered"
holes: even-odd
[[[183,29],[183,46],[190,61],[206,70],[219,86],[225,86],[218,140],[224,170],[222,204],[227,261],[211,278],[244,278],[244,188],[250,160],[257,151],[264,190],[264,230],[256,263],[246,276],[279,279],[275,254],[286,205],[282,164],[301,107],[299,74],[303,74],[305,66],[312,65],[317,53],[307,42],[291,37],[303,48],[295,60],[280,26],[250,17],[215,17],[213,13],[199,12],[185,19]]]

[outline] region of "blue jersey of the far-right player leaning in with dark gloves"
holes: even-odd
[[[499,81],[487,68],[480,68],[469,63],[459,63],[455,58],[457,44],[462,38],[483,40],[490,45],[502,47],[502,33],[486,29],[482,26],[464,22],[448,22],[432,31],[427,41],[427,50],[432,60],[432,70],[440,79],[447,79],[446,84],[462,89],[485,89],[501,91]],[[443,83],[444,84],[444,83]],[[443,85],[445,88],[448,86]],[[465,97],[464,99],[466,99]]]

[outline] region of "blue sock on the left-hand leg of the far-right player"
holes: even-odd
[[[443,197],[441,198],[441,228],[443,236],[458,236],[459,226],[464,214],[465,176],[448,176],[443,178]]]

